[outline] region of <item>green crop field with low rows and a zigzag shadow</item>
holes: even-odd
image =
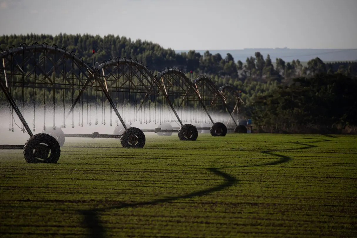
[[[0,151],[0,237],[357,237],[357,137],[69,138]]]

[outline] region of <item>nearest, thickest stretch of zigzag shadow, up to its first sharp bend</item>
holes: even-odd
[[[205,190],[197,191],[197,192],[192,192],[188,193],[185,195],[181,196],[175,196],[175,197],[168,197],[168,198],[161,198],[161,199],[155,199],[152,201],[148,202],[138,202],[138,203],[120,203],[116,206],[111,206],[111,207],[106,207],[106,208],[99,208],[99,209],[90,209],[90,210],[85,210],[81,211],[80,213],[83,215],[83,221],[82,221],[82,226],[87,227],[88,232],[89,232],[89,237],[90,238],[104,238],[105,236],[105,229],[102,226],[101,220],[99,218],[101,212],[108,211],[110,209],[122,209],[122,208],[127,208],[127,207],[137,207],[137,206],[145,206],[145,205],[156,205],[160,203],[165,203],[165,202],[171,202],[175,201],[177,199],[187,199],[187,198],[193,198],[193,197],[199,197],[203,196],[212,192],[217,192],[221,191],[222,189],[231,187],[233,184],[237,183],[238,180],[232,176],[230,176],[227,173],[224,173],[220,171],[217,168],[207,168],[208,171],[222,177],[225,179],[225,182],[222,184],[219,184],[218,186],[208,188]]]

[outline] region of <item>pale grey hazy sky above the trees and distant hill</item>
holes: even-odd
[[[114,34],[175,50],[357,48],[357,0],[0,0],[0,34]]]

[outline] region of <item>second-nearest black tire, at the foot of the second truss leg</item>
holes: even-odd
[[[120,143],[124,148],[142,148],[145,145],[145,134],[139,128],[127,128],[120,137]]]

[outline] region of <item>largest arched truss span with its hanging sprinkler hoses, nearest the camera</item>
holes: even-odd
[[[48,44],[38,44],[37,42],[27,46],[21,44],[20,47],[10,47],[8,50],[0,53],[0,87],[4,92],[7,101],[9,102],[13,111],[21,121],[21,129],[27,132],[30,139],[34,137],[35,131],[35,107],[36,96],[38,91],[42,91],[45,95],[45,90],[52,90],[53,103],[55,103],[55,91],[64,90],[72,91],[72,97],[75,92],[87,90],[87,87],[96,83],[97,87],[101,88],[106,100],[110,103],[111,109],[114,111],[121,123],[124,124],[117,108],[115,107],[110,95],[105,90],[105,85],[95,76],[95,70],[80,58],[76,57],[75,53],[67,51],[65,48],[60,49],[56,45],[49,46]],[[11,90],[12,88],[22,88],[21,110],[15,102]],[[32,131],[24,118],[24,89],[32,89],[34,121]],[[65,94],[64,94],[65,95]],[[26,98],[27,99],[27,98]],[[46,106],[46,97],[43,96],[44,105]],[[63,98],[64,105],[66,103],[65,96]],[[45,107],[44,106],[44,107]],[[53,110],[55,111],[54,104]],[[73,109],[73,108],[72,108]],[[71,110],[72,110],[71,109]],[[11,109],[10,109],[11,110]],[[70,111],[71,112],[71,111]],[[44,113],[45,114],[45,113]],[[45,115],[44,115],[45,117]],[[56,130],[56,116],[53,117],[52,130]],[[62,127],[65,127],[62,125]],[[12,126],[13,127],[13,126]],[[73,127],[73,120],[72,120]],[[44,130],[46,126],[44,123]],[[13,131],[13,128],[12,128]],[[67,137],[88,137],[88,135],[65,134]],[[120,137],[117,135],[99,135],[94,132],[91,134],[95,137]],[[14,146],[10,146],[13,148]],[[15,146],[16,147],[16,146]],[[9,148],[9,146],[1,146],[2,149]]]

